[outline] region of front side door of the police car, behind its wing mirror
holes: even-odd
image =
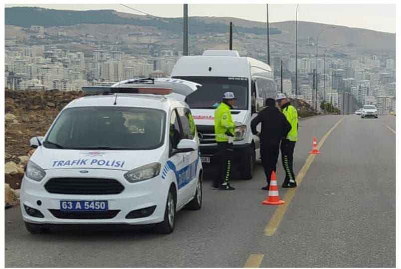
[[[177,145],[183,137],[182,128],[180,126],[180,120],[178,119],[177,110],[174,109],[170,115],[170,132],[169,132],[169,160],[167,161],[173,177],[176,180],[178,194],[177,194],[177,207],[181,207],[186,201],[188,194],[186,195],[184,188],[184,177],[183,173],[187,166],[184,162],[184,154],[186,153],[174,153],[174,149],[177,149]]]

